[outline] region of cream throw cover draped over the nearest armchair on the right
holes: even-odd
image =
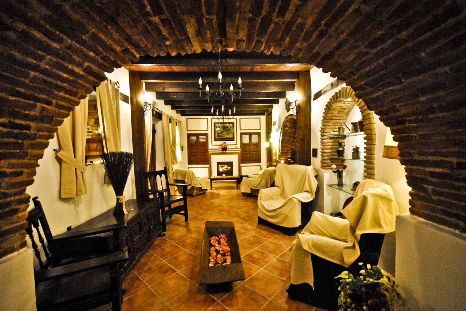
[[[389,233],[395,230],[398,206],[389,185],[367,179],[357,187],[353,201],[346,206],[347,219],[313,212],[308,225],[291,245],[289,265],[292,284],[314,287],[310,253],[345,267],[360,255],[363,233]]]

